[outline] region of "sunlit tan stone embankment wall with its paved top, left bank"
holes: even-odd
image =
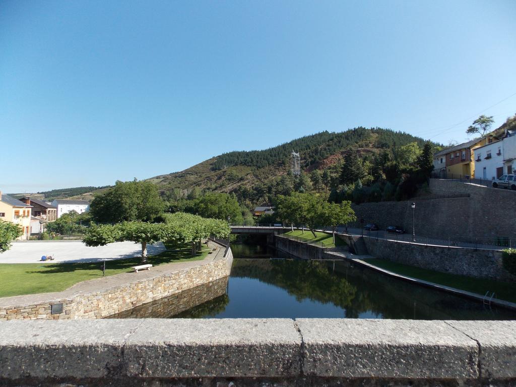
[[[153,267],[150,272],[104,277],[102,281],[106,285],[99,281],[98,288],[89,292],[74,291],[72,286],[64,292],[2,298],[0,320],[104,318],[118,314],[227,278],[231,273],[233,255],[231,249],[227,256],[223,256],[223,253],[224,249],[218,248],[215,254],[208,255],[203,261],[192,262],[183,269],[174,266],[180,264],[168,264]],[[147,277],[138,279],[140,273]],[[117,276],[125,276],[126,280],[109,285]],[[62,313],[51,314],[52,305],[60,303]]]

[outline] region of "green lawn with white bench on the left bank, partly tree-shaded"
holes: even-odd
[[[197,255],[190,255],[190,246],[166,245],[166,251],[148,256],[154,266],[166,263],[200,261],[208,254],[203,245]],[[133,271],[139,257],[106,262],[106,276]],[[101,263],[14,263],[0,264],[0,297],[63,291],[77,282],[102,277]]]

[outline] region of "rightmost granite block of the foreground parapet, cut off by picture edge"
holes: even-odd
[[[484,378],[516,375],[516,321],[446,321],[471,337],[480,348],[480,372]]]

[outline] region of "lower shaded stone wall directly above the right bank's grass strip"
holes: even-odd
[[[426,246],[367,236],[364,243],[376,258],[461,276],[516,281],[503,268],[501,251]]]

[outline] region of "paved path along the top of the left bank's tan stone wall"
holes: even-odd
[[[142,281],[147,281],[158,277],[170,276],[172,275],[172,273],[178,271],[189,270],[192,267],[203,266],[214,261],[223,260],[224,249],[222,249],[218,244],[212,246],[217,247],[216,253],[208,254],[202,261],[168,263],[164,265],[153,266],[151,270],[143,270],[137,273],[126,272],[116,274],[113,276],[82,281],[70,286],[68,289],[65,289],[61,292],[36,293],[22,296],[2,297],[0,298],[0,308],[28,308],[30,306],[35,306],[42,303],[63,302],[64,300],[72,300],[77,295],[89,296],[96,293],[109,292],[110,290],[116,289],[119,286],[128,283],[136,284]],[[220,251],[222,251],[222,253],[220,253]],[[64,264],[65,263],[63,263],[63,265]]]

